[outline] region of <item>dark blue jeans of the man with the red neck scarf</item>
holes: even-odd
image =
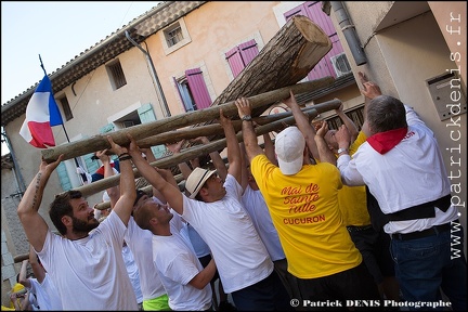
[[[407,302],[438,302],[440,289],[452,302],[454,311],[467,309],[467,263],[464,234],[459,223],[452,230],[422,238],[392,239],[390,252],[395,262],[395,276]],[[410,310],[441,311],[442,308],[408,306]]]

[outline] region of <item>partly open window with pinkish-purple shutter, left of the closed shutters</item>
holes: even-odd
[[[184,77],[173,79],[185,112],[197,110],[211,105],[211,98],[200,68],[187,69]]]

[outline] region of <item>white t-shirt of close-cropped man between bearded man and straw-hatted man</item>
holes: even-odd
[[[188,284],[204,268],[180,233],[172,232],[171,236],[153,235],[153,260],[172,310],[198,311],[211,307],[210,284],[203,289]]]

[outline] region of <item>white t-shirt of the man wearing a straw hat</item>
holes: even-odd
[[[240,184],[227,174],[226,195],[214,203],[183,196],[182,218],[208,244],[226,294],[266,278],[273,262],[240,202]]]

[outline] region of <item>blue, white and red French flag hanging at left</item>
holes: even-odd
[[[52,83],[46,75],[26,107],[26,119],[20,134],[32,146],[55,146],[53,126],[63,125],[62,115],[52,92]]]

